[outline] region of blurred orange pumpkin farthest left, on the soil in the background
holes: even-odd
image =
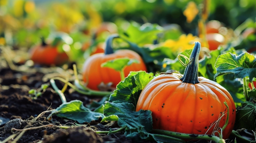
[[[34,46],[30,51],[30,59],[39,65],[62,65],[69,60],[65,52],[59,52],[57,46],[46,44],[42,38],[42,44]]]

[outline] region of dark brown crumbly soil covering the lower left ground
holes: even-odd
[[[40,68],[39,68],[40,69]],[[47,68],[46,68],[47,69]],[[5,140],[10,135],[21,131],[15,129],[26,129],[27,131],[19,137],[17,143],[35,143],[42,141],[43,143],[65,143],[65,142],[132,142],[126,139],[123,132],[112,135],[96,134],[94,131],[108,131],[110,128],[117,127],[116,124],[101,124],[99,121],[91,122],[85,126],[75,126],[73,120],[62,119],[53,116],[51,120],[47,119],[47,115],[35,118],[42,112],[52,110],[61,105],[58,94],[55,93],[49,83],[49,79],[43,81],[49,71],[44,70],[31,71],[14,71],[10,68],[0,68],[0,141]],[[39,72],[40,71],[40,72]],[[56,73],[54,73],[56,75]],[[59,74],[58,76],[61,76]],[[47,78],[46,78],[47,79]],[[55,80],[59,89],[64,86],[63,83]],[[49,84],[49,87],[42,92],[42,95],[35,98],[28,92],[30,89],[39,89],[42,84]],[[84,106],[92,101],[99,101],[101,98],[89,98],[79,94],[68,88],[65,92],[67,102],[72,100],[80,100]],[[59,126],[68,126],[69,129],[62,129]],[[37,127],[34,129],[34,127]],[[16,136],[18,138],[18,136]],[[14,138],[15,139],[15,138]],[[10,139],[8,142],[13,141]]]

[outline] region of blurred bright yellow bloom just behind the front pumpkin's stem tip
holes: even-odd
[[[169,47],[173,52],[182,52],[187,49],[191,49],[195,41],[199,41],[197,36],[193,36],[191,33],[188,35],[182,34],[178,40],[168,39],[162,46]]]

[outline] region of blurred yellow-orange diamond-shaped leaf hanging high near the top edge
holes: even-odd
[[[197,5],[195,4],[195,2],[191,1],[188,3],[187,8],[183,11],[183,14],[186,16],[187,22],[191,23],[198,14],[198,12],[199,10],[197,8]]]

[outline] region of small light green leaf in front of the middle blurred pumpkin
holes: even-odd
[[[129,58],[116,58],[114,60],[109,60],[101,64],[101,67],[112,68],[116,71],[122,71],[126,66],[129,66],[133,63],[139,63],[136,59]]]

